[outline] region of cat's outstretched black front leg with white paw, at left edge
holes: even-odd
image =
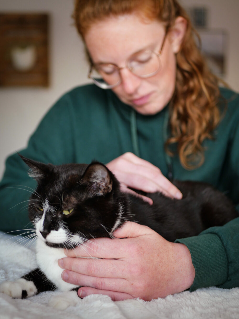
[[[29,272],[16,281],[4,281],[0,285],[1,293],[5,293],[12,298],[21,299],[34,296],[42,291],[55,289],[55,285],[47,279],[39,268]]]

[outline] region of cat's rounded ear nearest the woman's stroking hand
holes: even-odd
[[[81,179],[88,184],[91,195],[105,196],[112,190],[110,171],[101,163],[91,163]]]

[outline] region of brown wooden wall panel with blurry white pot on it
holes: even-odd
[[[0,13],[0,86],[49,85],[48,14]]]

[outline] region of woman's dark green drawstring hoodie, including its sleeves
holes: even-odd
[[[123,104],[110,90],[95,85],[77,87],[62,96],[40,122],[29,140],[25,157],[45,163],[108,163],[125,152],[134,152],[178,180],[208,182],[225,192],[239,211],[239,96],[221,89],[227,110],[214,132],[205,140],[205,162],[186,170],[175,155],[164,151],[168,107],[156,115],[141,115]],[[176,145],[174,145],[176,146]],[[18,154],[6,161],[0,184],[2,231],[28,225],[27,200],[35,181]],[[25,189],[25,190],[23,190]],[[21,203],[21,204],[19,204]],[[239,286],[239,218],[223,227],[212,227],[199,236],[178,239],[190,250],[196,276],[191,291],[206,286]]]

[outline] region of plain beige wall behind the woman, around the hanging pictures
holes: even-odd
[[[225,80],[239,91],[238,0],[183,0],[187,6],[210,7],[210,27],[228,31]],[[47,109],[70,88],[86,83],[83,45],[70,18],[73,0],[0,0],[1,12],[50,14],[49,88],[0,88],[0,174],[7,155],[26,146],[30,134]]]

